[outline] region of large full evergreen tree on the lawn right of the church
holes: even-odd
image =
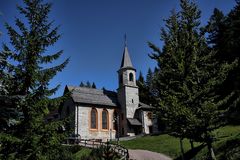
[[[200,11],[196,4],[181,0],[181,10],[172,11],[161,30],[162,51],[149,43],[158,62],[156,88],[158,110],[168,125],[170,134],[208,145],[214,158],[212,131],[225,125],[226,102],[232,94],[220,97],[219,86],[226,79],[232,64],[215,60],[200,32]]]

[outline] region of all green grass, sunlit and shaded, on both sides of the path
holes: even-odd
[[[238,142],[240,142],[240,126],[222,127],[214,131],[214,134],[217,137],[217,141],[213,146],[218,160],[226,159],[226,155],[238,156],[238,153],[240,153],[240,146],[236,145]],[[128,149],[144,149],[163,153],[172,158],[180,156],[179,139],[167,134],[158,136],[144,136],[130,141],[121,141],[120,145]],[[199,143],[195,143],[194,145],[197,146]],[[191,149],[190,143],[187,139],[184,139],[183,146],[185,152]],[[83,147],[80,151],[75,153],[75,159],[81,159],[81,157],[88,156],[91,151],[91,149]],[[196,160],[206,159],[206,153],[207,148],[205,147],[197,155]]]

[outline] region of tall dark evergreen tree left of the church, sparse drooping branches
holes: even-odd
[[[45,120],[66,98],[49,98],[59,86],[49,88],[48,85],[68,63],[67,59],[58,66],[44,67],[44,64],[53,63],[63,53],[46,53],[46,49],[60,38],[57,33],[59,27],[51,29],[53,22],[48,22],[51,4],[42,0],[24,0],[24,6],[17,9],[26,21],[16,18],[17,29],[6,23],[11,47],[4,45],[3,49],[5,53],[11,53],[9,58],[14,63],[10,67],[11,77],[4,81],[9,84],[6,85],[7,94],[21,97],[19,103],[11,103],[21,117],[1,132],[0,159],[70,159],[61,145],[66,134],[59,131],[63,122],[47,123]],[[1,57],[4,52],[1,52]],[[1,68],[1,71],[4,69]],[[10,80],[11,83],[8,83]],[[1,103],[1,107],[6,109],[7,106]]]

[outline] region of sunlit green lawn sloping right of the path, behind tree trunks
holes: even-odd
[[[222,127],[216,130],[214,134],[216,137],[218,137],[218,141],[214,143],[214,148],[219,148],[228,140],[238,135],[240,136],[240,126]],[[172,158],[176,158],[180,155],[179,139],[166,134],[159,136],[145,136],[130,141],[121,141],[120,144],[128,149],[144,149],[153,152],[159,152],[166,154]],[[191,148],[188,140],[185,139],[183,144],[185,152]],[[194,145],[197,146],[198,144],[195,143]],[[207,150],[205,148],[204,151],[200,153],[200,155],[205,154],[206,151]]]

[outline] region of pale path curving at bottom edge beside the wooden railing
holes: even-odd
[[[147,150],[128,150],[130,160],[171,160],[161,153],[151,152]]]

